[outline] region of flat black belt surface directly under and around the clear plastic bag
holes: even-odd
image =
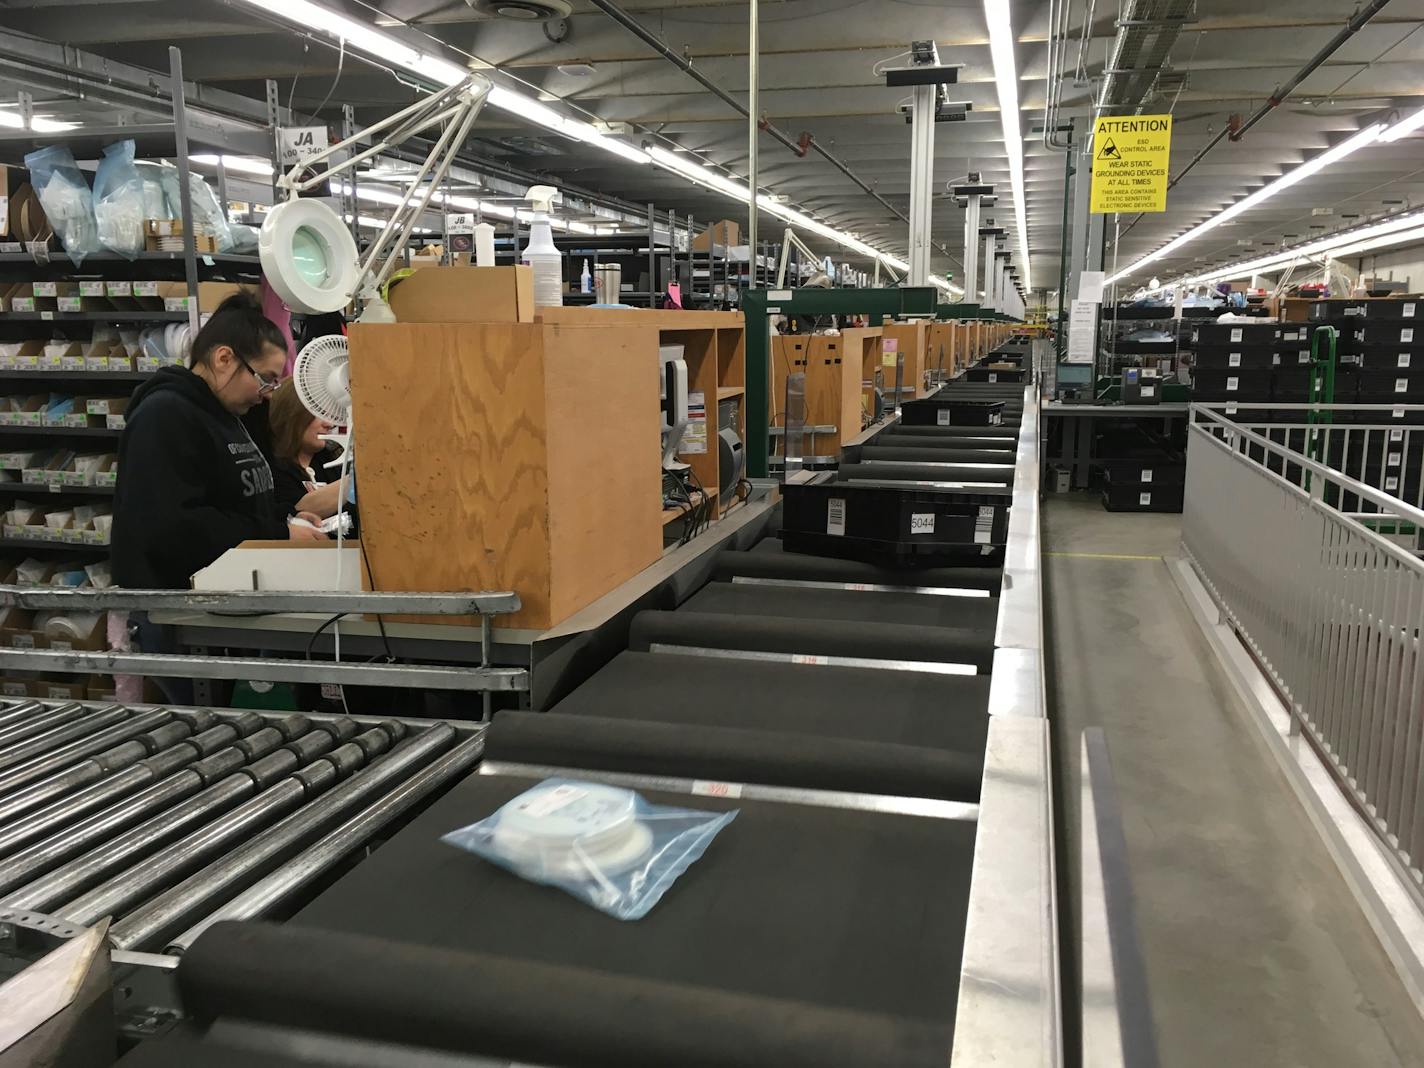
[[[534,783],[518,776],[466,779],[295,921],[749,998],[909,1017],[948,1037],[974,852],[971,822],[645,790],[659,805],[740,812],[648,916],[624,923],[439,840]],[[349,981],[350,1015],[387,1011],[382,974]],[[444,1004],[463,1001],[459,991],[437,994],[447,985],[439,973],[424,985]],[[564,1000],[547,993],[555,1002]],[[467,1011],[474,1008],[467,1004]],[[637,1002],[625,1008],[615,1021],[625,1057],[637,1055],[649,1030],[675,1025]],[[719,1018],[731,1027],[715,1010],[705,1024]],[[706,1038],[725,1062],[746,1064],[715,1031],[706,1027]],[[943,1065],[947,1048],[923,1062]],[[827,1065],[846,1064],[833,1047],[823,1055]],[[527,1052],[521,1058],[537,1059]]]

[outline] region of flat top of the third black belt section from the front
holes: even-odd
[[[990,634],[998,621],[995,597],[938,597],[853,590],[805,590],[795,587],[712,582],[684,604],[689,612],[726,612],[738,617],[796,617],[917,627],[984,628]]]

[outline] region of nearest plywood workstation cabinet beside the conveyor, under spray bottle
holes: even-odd
[[[547,629],[654,564],[658,345],[685,346],[715,420],[713,397],[739,373],[722,329],[740,332],[740,316],[561,308],[533,323],[353,325],[376,587],[514,590],[524,608],[504,622]],[[703,431],[706,451],[686,459],[715,493],[715,422]]]

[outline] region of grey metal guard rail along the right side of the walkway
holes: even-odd
[[[1417,531],[1424,510],[1199,404],[1189,433],[1183,550],[1286,699],[1292,731],[1420,894],[1424,561],[1324,497],[1333,487]],[[1309,473],[1310,488],[1269,470],[1267,454]]]

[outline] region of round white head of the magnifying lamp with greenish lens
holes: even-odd
[[[339,312],[360,281],[356,239],[320,201],[285,201],[269,211],[258,252],[268,283],[302,315]]]

